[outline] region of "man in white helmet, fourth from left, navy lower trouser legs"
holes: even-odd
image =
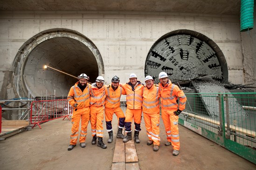
[[[123,139],[123,142],[128,142],[131,137],[131,122],[134,118],[135,131],[134,139],[136,143],[139,143],[138,134],[140,129],[141,114],[142,114],[142,89],[144,85],[137,81],[137,76],[134,73],[130,74],[130,82],[122,85],[126,94],[127,109],[125,112],[125,132],[127,135]]]

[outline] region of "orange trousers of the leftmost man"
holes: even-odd
[[[87,126],[90,120],[90,107],[85,107],[81,109],[74,109],[72,115],[72,128],[71,128],[71,135],[70,135],[70,144],[76,144],[78,138],[78,131],[79,131],[79,123],[81,119],[81,131],[80,131],[80,138],[79,142],[85,142],[86,135],[87,135]]]

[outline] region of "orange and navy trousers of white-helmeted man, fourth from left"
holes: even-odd
[[[125,132],[131,132],[131,122],[134,118],[135,131],[141,131],[140,122],[141,122],[142,109],[126,109],[125,112]]]

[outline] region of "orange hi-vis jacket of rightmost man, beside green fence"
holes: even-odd
[[[187,97],[177,85],[172,84],[171,80],[168,80],[165,87],[160,82],[159,89],[161,96],[161,107],[175,110],[180,109],[181,111],[185,109]],[[177,104],[178,98],[180,98],[179,105]]]

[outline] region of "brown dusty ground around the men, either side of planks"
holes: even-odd
[[[117,124],[114,117],[113,125]],[[104,124],[105,128],[105,124]],[[132,124],[132,129],[134,124]],[[172,146],[165,146],[164,125],[160,124],[160,147],[155,152],[146,145],[147,136],[142,119],[140,144],[135,144],[141,170],[256,170],[256,165],[201,137],[183,126],[180,128],[180,155],[172,155]],[[71,122],[56,119],[30,131],[24,131],[0,141],[0,170],[111,170],[117,129],[114,141],[104,143],[107,149],[91,145],[90,125],[86,147],[77,146],[68,151]],[[121,140],[121,139],[118,139]]]

